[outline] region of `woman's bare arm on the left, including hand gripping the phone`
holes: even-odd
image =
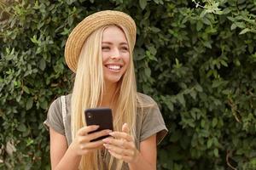
[[[76,138],[70,146],[67,146],[66,137],[55,132],[53,128],[49,128],[50,133],[50,161],[53,170],[73,170],[79,168],[79,162],[83,155],[90,151],[99,149],[103,142],[102,140],[90,142],[92,139],[97,139],[107,135],[109,130],[102,130],[96,133],[90,133],[98,128],[98,126],[88,126],[79,129]]]

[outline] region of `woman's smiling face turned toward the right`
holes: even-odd
[[[102,62],[104,80],[119,82],[129,65],[130,52],[125,33],[117,26],[108,26],[102,35]]]

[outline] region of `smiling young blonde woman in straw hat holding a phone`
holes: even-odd
[[[44,122],[52,169],[156,169],[156,144],[167,129],[154,100],[137,93],[135,42],[134,20],[119,11],[91,14],[73,29],[65,47],[73,92],[55,99]],[[98,126],[86,126],[84,110],[96,107],[112,109],[113,132],[90,133]]]

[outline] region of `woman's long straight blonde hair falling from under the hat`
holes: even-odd
[[[79,56],[71,100],[71,129],[73,139],[75,138],[78,130],[81,127],[86,126],[84,110],[87,108],[95,108],[102,102],[102,94],[105,88],[102,66],[102,33],[107,27],[108,26],[102,26],[87,38]],[[115,92],[116,96],[113,102],[113,128],[116,131],[121,131],[123,123],[126,122],[131,129],[131,135],[135,139],[137,86],[132,60],[131,41],[130,37],[127,36],[129,34],[127,34],[125,27],[118,27],[124,31],[125,37],[129,44],[130,62],[125,74],[119,80],[118,88]],[[109,154],[108,157],[110,157],[108,169],[122,168],[123,161],[115,160],[115,158]],[[113,162],[115,163],[113,164]],[[103,160],[101,157],[101,152],[100,150],[97,150],[86,156],[82,156],[79,168],[97,170],[102,169],[102,166]]]

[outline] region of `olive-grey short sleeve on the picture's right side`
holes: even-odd
[[[156,133],[156,143],[160,144],[168,132],[159,107],[155,104],[144,113],[140,141]]]

